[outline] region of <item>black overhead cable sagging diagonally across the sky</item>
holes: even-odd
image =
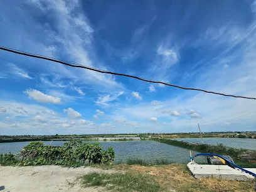
[[[223,96],[226,96],[226,97],[235,97],[235,98],[256,100],[255,97],[245,97],[245,96],[239,96],[239,95],[231,95],[231,94],[227,94],[227,93],[218,93],[218,92],[203,90],[203,89],[200,89],[200,88],[181,87],[179,85],[174,85],[174,84],[171,84],[171,83],[159,82],[159,81],[154,81],[154,80],[147,80],[147,79],[137,77],[137,76],[134,76],[134,75],[127,75],[127,74],[123,74],[123,73],[109,72],[109,71],[106,71],[106,70],[100,70],[100,69],[97,69],[97,68],[92,68],[92,67],[88,67],[88,66],[84,66],[84,65],[78,65],[76,63],[69,63],[67,61],[57,60],[56,58],[51,58],[51,57],[48,57],[48,56],[35,55],[35,54],[32,54],[32,53],[27,53],[27,52],[20,51],[20,50],[14,50],[12,48],[7,48],[7,47],[4,47],[4,46],[0,46],[0,50],[9,51],[9,52],[16,53],[16,54],[19,54],[19,55],[25,55],[25,56],[31,56],[31,57],[34,57],[34,58],[40,58],[40,59],[43,59],[43,60],[53,61],[53,62],[61,63],[63,65],[67,65],[67,66],[70,66],[70,67],[85,68],[87,70],[92,70],[94,72],[99,72],[99,73],[107,73],[107,74],[111,74],[111,75],[119,75],[119,76],[124,76],[124,77],[136,78],[136,79],[142,80],[144,82],[159,83],[159,84],[168,85],[168,86],[171,86],[171,87],[181,88],[181,89],[184,89],[184,90],[196,90],[196,91],[205,92],[205,93],[223,95]]]

